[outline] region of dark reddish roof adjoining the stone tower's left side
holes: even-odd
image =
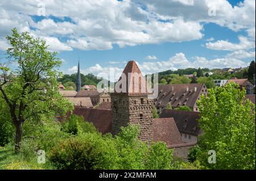
[[[93,123],[102,134],[110,133],[112,129],[112,111],[93,108],[75,107],[73,114],[84,117],[84,120]]]

